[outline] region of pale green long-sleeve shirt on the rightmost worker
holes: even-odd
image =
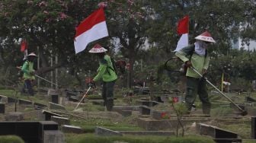
[[[207,54],[206,56],[200,56],[196,52],[193,52],[190,59],[189,54],[191,50],[194,51],[194,44],[184,47],[183,49],[176,52],[175,55],[178,56],[178,58],[180,58],[183,62],[187,62],[190,60],[190,62],[192,63],[192,66],[197,71],[199,71],[200,74],[202,75],[203,68],[207,70],[209,67],[209,62],[210,62],[210,58],[208,56],[209,54]],[[192,77],[192,78],[200,78],[200,75],[198,75],[191,68],[187,68],[186,76]]]

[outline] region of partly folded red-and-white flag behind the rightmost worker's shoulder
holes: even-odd
[[[188,45],[188,21],[188,16],[185,16],[180,21],[178,21],[177,32],[179,35],[181,35],[181,38],[178,40],[178,44],[174,52],[177,52],[178,50]]]

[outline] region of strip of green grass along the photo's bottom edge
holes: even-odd
[[[124,136],[97,136],[93,134],[82,135],[66,135],[67,143],[214,143],[213,139],[203,136],[186,136],[186,137],[163,137],[163,136],[136,136],[136,135],[124,135]]]

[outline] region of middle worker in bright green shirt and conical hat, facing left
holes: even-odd
[[[97,70],[97,75],[91,82],[103,81],[102,98],[107,110],[111,111],[114,106],[114,84],[117,80],[113,62],[111,62],[110,56],[107,55],[107,49],[99,44],[96,44],[89,52],[94,53],[99,57],[100,65]]]

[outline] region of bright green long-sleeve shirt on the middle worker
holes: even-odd
[[[98,68],[98,74],[94,77],[94,81],[114,81],[117,79],[117,74],[113,70],[114,67],[110,60],[110,56],[105,55],[103,59],[100,60],[100,66]]]

